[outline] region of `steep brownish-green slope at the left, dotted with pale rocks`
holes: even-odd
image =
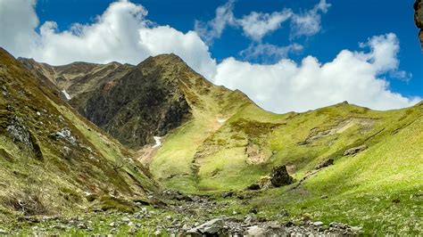
[[[80,117],[3,49],[0,81],[0,213],[113,208],[120,199],[146,199],[155,192],[130,151]]]

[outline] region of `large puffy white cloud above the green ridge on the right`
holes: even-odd
[[[364,45],[369,52],[344,50],[324,64],[312,56],[300,64],[284,59],[271,65],[228,58],[219,64],[215,83],[239,89],[275,112],[311,110],[345,100],[377,110],[419,102],[419,97],[391,92],[382,78],[398,69],[398,38],[392,33],[371,37]]]

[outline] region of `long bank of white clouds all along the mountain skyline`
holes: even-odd
[[[301,63],[285,58],[287,53],[301,50],[301,45],[280,47],[258,42],[245,50],[245,57],[285,59],[258,64],[228,58],[217,64],[197,32],[183,33],[170,26],[154,25],[145,19],[148,12],[140,4],[115,2],[95,22],[74,24],[64,31],[59,31],[54,21],[47,21],[37,33],[35,2],[10,3],[0,0],[0,46],[15,56],[54,65],[71,61],[137,64],[150,55],[177,53],[206,78],[240,89],[261,107],[274,112],[311,110],[344,100],[386,110],[420,100],[390,91],[384,79],[386,74],[407,76],[398,69],[400,46],[394,34],[371,37],[361,44],[359,52],[344,50],[326,63],[312,56]],[[314,9],[323,12],[327,8],[320,1]]]

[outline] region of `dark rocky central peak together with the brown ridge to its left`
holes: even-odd
[[[153,136],[193,119],[193,110],[219,110],[221,95],[233,93],[212,85],[174,54],[150,57],[137,66],[75,62],[54,67],[20,60],[43,83],[66,91],[81,115],[130,148],[153,143]],[[238,102],[249,101],[235,94]]]

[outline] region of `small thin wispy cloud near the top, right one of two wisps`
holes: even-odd
[[[321,29],[320,12],[326,13],[330,4],[320,0],[313,9],[302,14],[294,14],[291,20],[291,37],[310,37],[319,33]]]

